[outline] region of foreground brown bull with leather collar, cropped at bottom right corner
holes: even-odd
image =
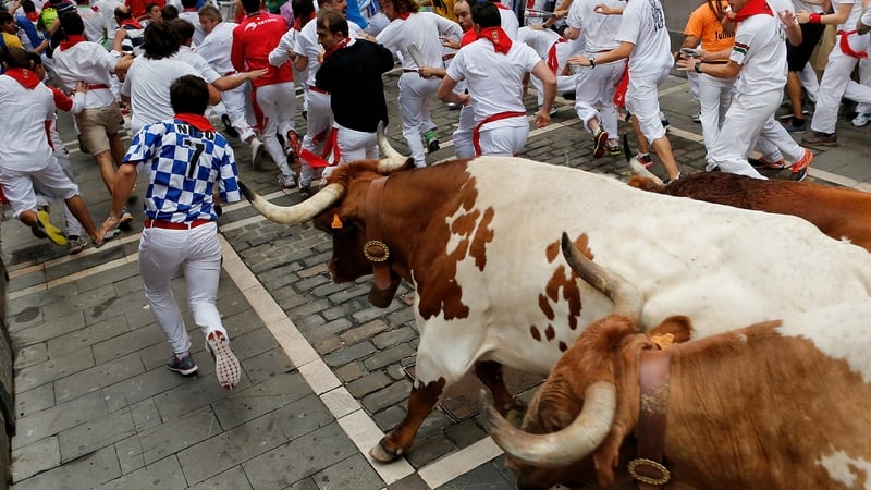
[[[617,308],[630,314],[590,324],[563,354],[522,429],[484,408],[518,487],[871,486],[871,299],[666,351],[637,330],[636,307]]]

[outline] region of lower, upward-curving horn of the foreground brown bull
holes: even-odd
[[[483,392],[483,390],[481,390]],[[482,399],[489,395],[482,393]],[[608,437],[617,406],[616,388],[596,381],[584,390],[584,408],[567,427],[551,433],[528,433],[511,425],[482,400],[482,422],[493,441],[508,455],[525,464],[554,468],[582,460]]]

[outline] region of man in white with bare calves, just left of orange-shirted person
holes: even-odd
[[[594,11],[603,15],[623,14],[616,36],[619,44],[608,52],[573,57],[571,62],[593,68],[628,58],[626,109],[633,113],[641,133],[657,150],[668,180],[679,179],[680,169],[677,168],[672,144],[660,120],[658,87],[665,82],[674,64],[662,4],[659,0],[629,0],[624,10],[599,3]]]

